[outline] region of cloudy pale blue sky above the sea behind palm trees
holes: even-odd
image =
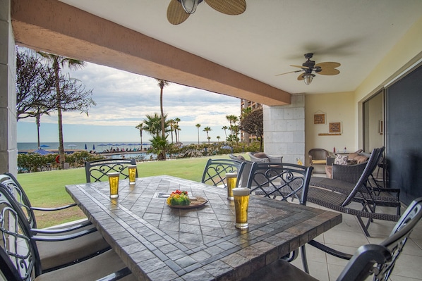
[[[67,72],[67,70],[64,70]],[[66,112],[63,115],[64,142],[133,142],[139,139],[135,126],[145,115],[159,113],[159,87],[154,78],[87,63],[81,70],[72,70],[71,77],[80,80],[86,89],[93,89],[97,106],[89,115]],[[181,142],[207,141],[204,127],[211,127],[211,141],[225,138],[226,115],[240,115],[240,99],[171,83],[163,92],[164,113],[170,119],[180,118]],[[41,142],[59,142],[57,116],[42,115]],[[143,139],[150,139],[144,133]],[[171,140],[171,137],[169,137]],[[18,142],[37,142],[35,118],[18,121]]]

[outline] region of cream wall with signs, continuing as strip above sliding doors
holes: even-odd
[[[306,151],[312,148],[323,148],[332,151],[344,149],[348,151],[360,149],[363,146],[362,103],[376,94],[388,82],[397,78],[409,66],[422,60],[422,16],[399,39],[385,58],[363,80],[355,92],[306,95]],[[318,136],[320,132],[328,132],[328,125],[314,125],[313,113],[327,113],[327,123],[342,121],[341,136]]]

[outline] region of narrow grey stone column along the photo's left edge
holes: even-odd
[[[0,173],[17,173],[16,54],[10,0],[0,0]]]

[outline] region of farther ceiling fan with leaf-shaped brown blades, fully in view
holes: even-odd
[[[294,70],[289,71],[288,73],[299,73],[304,72],[303,74],[299,75],[298,80],[303,80],[306,85],[311,84],[313,77],[315,77],[315,74],[312,72],[321,74],[321,75],[337,75],[340,73],[340,71],[336,68],[340,66],[340,63],[332,63],[332,62],[325,62],[325,63],[317,63],[315,64],[315,61],[311,61],[311,58],[313,56],[313,53],[308,53],[304,55],[305,58],[308,59],[308,61],[305,61],[302,63],[302,65],[290,65],[294,68],[302,68],[301,70]],[[277,74],[275,76],[284,75],[287,73]]]

